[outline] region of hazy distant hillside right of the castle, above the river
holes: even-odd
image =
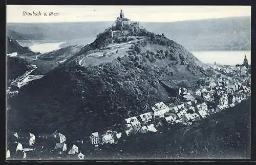
[[[180,22],[141,22],[148,31],[179,42],[190,51],[250,50],[251,18],[231,17]]]

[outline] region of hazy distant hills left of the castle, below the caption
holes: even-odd
[[[24,44],[33,42],[61,42],[92,38],[113,22],[7,23],[7,35]],[[20,37],[24,35],[25,39]]]

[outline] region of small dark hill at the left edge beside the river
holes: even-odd
[[[12,53],[12,52],[17,52],[18,54],[34,53],[28,47],[21,46],[15,39],[12,39],[10,37],[6,38],[6,42],[7,42],[6,53]]]

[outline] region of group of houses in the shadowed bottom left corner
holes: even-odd
[[[67,153],[78,159],[84,159],[81,153],[83,141],[75,141],[67,145],[66,136],[57,131],[53,133],[41,133],[34,135],[30,132],[14,132],[7,144],[7,159],[28,159],[41,157],[49,158],[50,155],[61,155]]]

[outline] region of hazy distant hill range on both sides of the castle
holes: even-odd
[[[230,17],[180,22],[141,22],[140,24],[150,32],[164,33],[166,37],[179,42],[190,51],[199,51],[250,50],[250,23],[250,17]],[[24,45],[31,45],[32,41],[67,41],[70,45],[86,45],[112,24],[113,22],[44,23],[43,25],[41,23],[7,23],[7,34],[20,40]]]

